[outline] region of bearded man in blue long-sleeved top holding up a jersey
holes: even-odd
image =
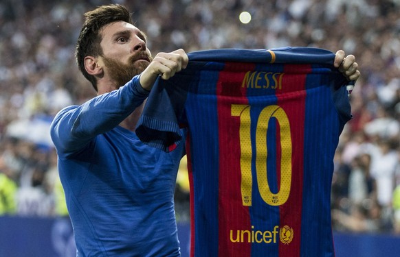
[[[173,194],[184,143],[166,153],[134,130],[155,79],[185,69],[188,56],[179,49],[152,60],[121,5],[85,17],[76,60],[98,96],[64,108],[51,127],[77,256],[180,256]],[[358,72],[343,51],[336,61],[346,76]]]

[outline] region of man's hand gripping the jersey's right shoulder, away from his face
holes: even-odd
[[[355,57],[353,55],[348,55],[346,57],[343,50],[336,52],[335,62],[333,65],[339,68],[339,71],[343,73],[344,77],[348,81],[356,81],[359,78],[358,64],[355,62]]]

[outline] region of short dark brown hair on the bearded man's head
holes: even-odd
[[[85,13],[85,23],[80,30],[76,42],[75,58],[80,72],[91,82],[94,89],[97,89],[96,77],[87,73],[85,69],[86,56],[101,56],[102,48],[100,42],[102,27],[115,21],[125,21],[132,24],[131,13],[123,5],[111,4],[102,5],[95,10]]]

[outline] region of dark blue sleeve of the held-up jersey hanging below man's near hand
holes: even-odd
[[[157,78],[135,130],[140,140],[166,152],[173,151],[183,141],[184,106],[201,65],[202,62],[190,62],[179,75],[168,80]]]

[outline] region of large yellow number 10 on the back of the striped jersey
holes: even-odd
[[[252,140],[250,136],[250,106],[232,104],[231,114],[240,117],[239,137],[241,145],[241,193],[243,206],[252,206]],[[269,119],[275,118],[280,125],[280,187],[272,193],[268,184],[267,131]],[[271,206],[285,204],[291,186],[291,134],[287,114],[279,106],[267,106],[258,117],[256,127],[256,174],[258,190],[263,200]]]

